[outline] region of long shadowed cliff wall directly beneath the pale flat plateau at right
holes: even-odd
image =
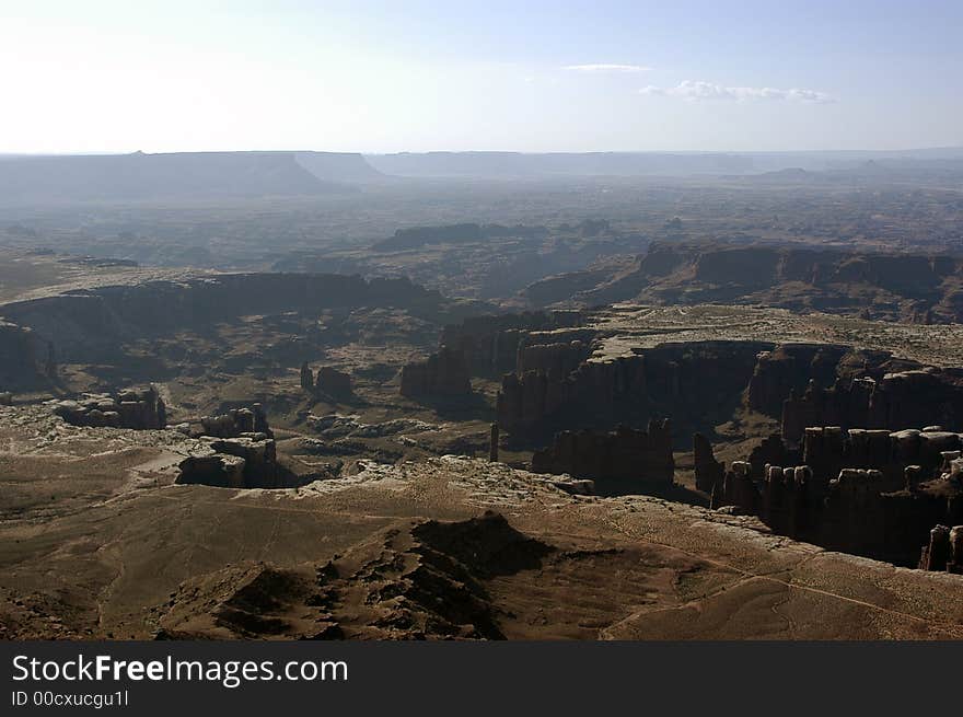
[[[552,332],[565,336],[584,329]],[[590,358],[583,342],[520,342],[519,370],[502,379],[499,425],[515,443],[558,429],[641,427],[670,416],[683,435],[712,429],[743,407],[781,419],[790,443],[807,426],[895,430],[915,423],[963,429],[963,370],[833,344],[683,342]],[[604,343],[604,338],[600,339]],[[596,345],[599,342],[596,342]]]

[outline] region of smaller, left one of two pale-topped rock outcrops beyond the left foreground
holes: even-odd
[[[150,430],[167,426],[164,400],[153,385],[116,394],[85,393],[77,401],[57,401],[53,412],[73,426]]]

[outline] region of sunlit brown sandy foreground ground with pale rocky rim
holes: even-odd
[[[5,638],[963,638],[963,576],[826,552],[747,517],[570,495],[453,456],[298,489],[178,486],[189,439],[175,431],[0,418]],[[509,559],[509,528],[484,521],[467,552],[420,536],[426,520],[486,510],[509,546],[538,550]],[[432,590],[477,594],[451,613]]]

